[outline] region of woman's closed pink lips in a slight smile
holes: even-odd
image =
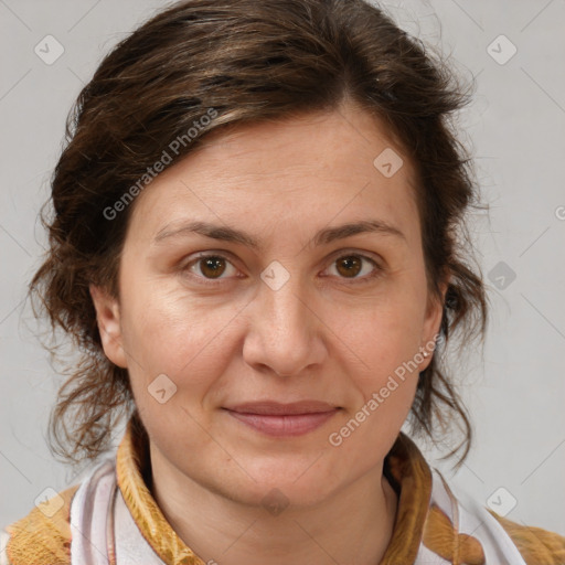
[[[265,401],[224,408],[230,416],[273,437],[294,437],[313,431],[341,408],[318,401],[290,404]]]

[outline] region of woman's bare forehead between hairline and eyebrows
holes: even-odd
[[[143,190],[131,227],[149,238],[190,220],[307,236],[376,217],[419,237],[413,179],[383,125],[345,107],[214,131]]]

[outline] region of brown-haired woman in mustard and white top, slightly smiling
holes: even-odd
[[[401,431],[459,422],[459,465],[471,441],[443,362],[487,320],[465,100],[362,0],[190,0],[103,61],[31,290],[83,354],[60,452],[128,425],[7,527],[4,563],[565,562]]]

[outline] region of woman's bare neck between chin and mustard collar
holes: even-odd
[[[204,563],[376,565],[391,541],[397,495],[382,466],[322,502],[280,514],[226,498],[151,448],[152,494],[179,537]]]

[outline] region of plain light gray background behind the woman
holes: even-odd
[[[476,447],[454,476],[435,449],[419,445],[456,489],[497,504],[510,520],[565,535],[565,1],[384,4],[404,29],[451,55],[465,77],[477,77],[460,125],[491,205],[490,217],[475,214],[472,221],[492,305],[484,361],[471,351],[454,364]],[[58,491],[75,479],[45,445],[61,377],[23,301],[40,264],[44,234],[36,216],[64,120],[102,55],[162,6],[0,0],[2,526],[26,514],[45,488]],[[47,34],[64,46],[52,65],[34,53]],[[504,64],[511,44],[494,41],[501,34],[518,49]]]

